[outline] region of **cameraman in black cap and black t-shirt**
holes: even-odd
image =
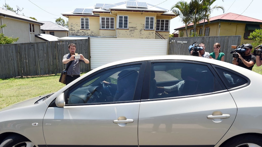
[[[256,63],[256,57],[251,54],[253,46],[247,43],[243,46],[243,48],[246,49],[246,52],[244,52],[243,56],[241,56],[240,53],[237,53],[238,58],[233,59],[233,64],[252,70],[254,64]]]

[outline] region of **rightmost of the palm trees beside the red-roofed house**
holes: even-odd
[[[225,12],[225,9],[223,6],[217,6],[215,5],[214,7],[211,8],[211,5],[215,2],[216,0],[203,0],[202,4],[203,4],[203,8],[204,8],[204,11],[205,11],[205,16],[204,16],[204,23],[203,23],[203,29],[202,29],[202,34],[203,35],[203,32],[204,32],[204,28],[205,28],[205,19],[207,19],[207,21],[209,22],[209,16],[211,14],[211,12],[213,10],[218,10],[218,9],[222,9],[223,10],[223,13]],[[224,0],[222,0],[224,2]]]

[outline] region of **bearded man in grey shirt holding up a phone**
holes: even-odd
[[[68,45],[68,50],[70,53],[64,55],[62,60],[63,64],[67,64],[67,66],[71,62],[67,69],[66,85],[80,77],[80,62],[89,63],[89,60],[84,58],[82,54],[77,55],[75,53],[76,46],[74,43]],[[80,56],[80,58],[75,58],[76,56]]]

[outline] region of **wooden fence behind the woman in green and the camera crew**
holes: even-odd
[[[195,41],[198,44],[205,44],[206,52],[214,52],[216,42],[221,45],[221,52],[225,53],[225,62],[232,63],[233,55],[230,54],[234,49],[231,45],[240,45],[241,36],[203,36],[203,37],[172,37],[169,38],[168,55],[189,55],[188,47]]]

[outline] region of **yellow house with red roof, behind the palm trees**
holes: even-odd
[[[235,14],[226,13],[209,18],[209,23],[205,20],[205,28],[203,30],[203,23],[199,22],[196,27],[197,35],[202,34],[205,36],[231,36],[241,35],[241,44],[253,42],[248,39],[251,32],[256,29],[261,29],[262,20]],[[194,32],[193,24],[189,24],[187,27],[188,35]],[[185,26],[176,28],[174,30],[179,31],[178,37],[186,37]]]

